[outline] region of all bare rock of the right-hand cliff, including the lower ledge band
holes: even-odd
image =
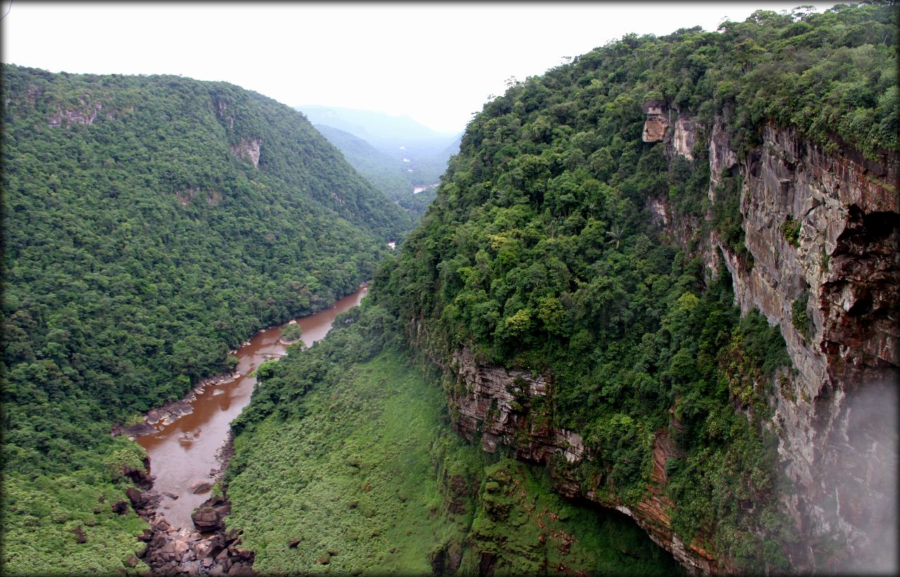
[[[691,158],[706,127],[677,111],[645,105],[644,113],[644,141],[664,140],[667,156]],[[673,113],[677,120],[670,126]],[[795,131],[767,126],[762,145],[739,159],[720,122],[708,129],[702,132],[708,134],[709,198],[715,200],[721,175],[742,176],[744,242],[753,264],[715,232],[698,253],[712,275],[718,255],[724,257],[736,303],[743,313],[759,309],[779,326],[796,368],[787,386],[773,388],[776,412],[770,424],[791,483],[784,506],[801,539],[788,552],[790,561],[797,571],[841,571],[848,567],[829,552],[844,550],[855,563],[869,562],[861,566],[889,568],[896,542],[900,367],[897,158],[872,162],[850,149],[826,152]],[[675,218],[664,200],[651,201],[648,208],[682,247],[700,228],[699,220]],[[786,221],[799,223],[793,242],[782,231]],[[795,302],[804,301],[810,321],[797,327]],[[715,559],[697,543],[683,543],[671,530],[666,510],[672,503],[661,488],[665,459],[675,448],[664,431],[654,441],[648,495],[628,508],[597,490],[601,479],[577,480],[575,467],[568,466],[592,460],[591,451],[576,433],[551,428],[543,419],[540,398],[552,394],[552,374],[481,365],[466,348],[455,354],[450,368],[457,384],[447,400],[464,437],[481,436],[489,452],[505,445],[520,459],[546,464],[561,492],[635,518],[691,572],[733,570],[728,560]]]

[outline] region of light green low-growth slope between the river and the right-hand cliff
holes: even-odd
[[[366,302],[338,317],[273,365],[235,423],[227,522],[255,570],[679,572],[629,519],[563,500],[545,471],[457,437],[397,324]]]

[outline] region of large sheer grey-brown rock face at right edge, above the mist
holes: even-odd
[[[682,122],[668,148],[685,155],[689,137],[678,132],[698,127]],[[762,140],[739,162],[721,124],[712,127],[710,198],[723,171],[743,176],[744,243],[753,265],[715,233],[708,246],[725,257],[742,312],[759,309],[779,325],[797,369],[772,400],[779,455],[793,484],[786,506],[804,543],[791,560],[800,569],[840,570],[823,549],[836,545],[851,558],[872,559],[895,542],[885,531],[896,523],[897,158],[825,152],[773,126]],[[793,243],[781,230],[786,221],[799,224]],[[713,256],[707,251],[710,265]],[[794,305],[805,301],[810,322],[795,326]]]

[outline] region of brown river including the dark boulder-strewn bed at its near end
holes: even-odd
[[[304,345],[324,338],[338,314],[358,305],[367,291],[364,284],[328,309],[291,321],[301,326]],[[147,546],[139,556],[154,573],[254,574],[255,554],[241,547],[237,530],[226,530],[227,498],[210,493],[233,455],[229,426],[250,401],[257,383],[253,374],[290,346],[281,338],[284,326],[260,330],[233,351],[234,374],[206,379],[186,399],[149,410],[138,424],[115,428],[147,449],[147,472],[126,472],[139,487],[127,496],[150,522],[140,536]]]

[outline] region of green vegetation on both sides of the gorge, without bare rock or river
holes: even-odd
[[[726,266],[701,258],[716,232],[752,266],[741,177],[707,194],[709,131],[742,157],[767,124],[826,150],[897,151],[896,25],[896,6],[869,3],[626,34],[486,104],[411,233],[408,212],[264,96],[4,66],[4,573],[146,570],[146,524],[112,509],[143,455],[112,423],[366,278],[333,335],[260,367],[233,424],[227,522],[258,569],[668,574],[643,531],[551,491],[565,473],[635,507],[665,435],[653,489],[685,544],[789,570],[768,400],[794,369],[778,328],[742,317]],[[648,100],[700,127],[692,159],[642,140]],[[697,230],[661,230],[650,202]],[[385,242],[408,233],[392,256]],[[590,459],[547,472],[451,435],[442,399],[464,383],[433,361],[461,347],[552,375],[546,397],[518,399],[519,440],[570,429]]]

